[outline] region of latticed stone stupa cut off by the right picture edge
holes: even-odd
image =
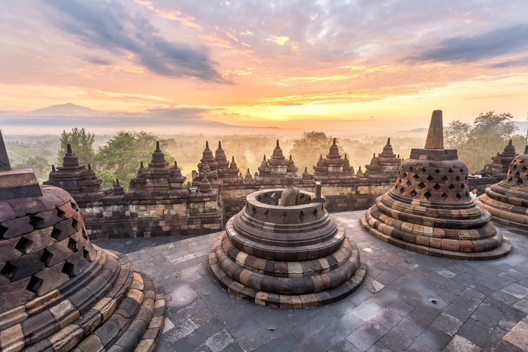
[[[485,192],[478,202],[493,221],[528,230],[528,146],[511,161],[505,179]]]

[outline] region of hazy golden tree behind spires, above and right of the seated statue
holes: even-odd
[[[289,151],[289,154],[292,154],[292,158],[299,168],[299,173],[303,173],[305,167],[308,168],[309,172],[313,172],[312,166],[317,164],[320,155],[325,157],[328,154],[332,142],[332,137],[327,137],[324,132],[316,131],[305,131],[302,137],[295,139],[294,146]],[[339,142],[337,144],[340,154],[343,155],[342,147]]]

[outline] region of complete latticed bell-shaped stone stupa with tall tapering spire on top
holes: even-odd
[[[480,260],[497,259],[511,250],[490,220],[491,214],[470,199],[467,167],[456,149],[443,148],[442,111],[435,110],[425,148],[411,150],[395,186],[376,199],[361,224],[406,250]]]

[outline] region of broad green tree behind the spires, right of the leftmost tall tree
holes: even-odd
[[[107,170],[117,177],[120,184],[127,188],[130,180],[137,174],[140,162],[144,162],[144,166],[151,162],[156,141],[159,141],[159,147],[163,151],[164,146],[167,145],[166,140],[159,139],[144,131],[119,131],[108,141],[106,146],[99,148],[97,153],[98,165],[102,170]],[[168,153],[164,153],[166,161],[173,164],[174,158]]]

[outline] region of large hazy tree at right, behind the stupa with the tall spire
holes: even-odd
[[[445,147],[458,149],[459,159],[465,162],[470,173],[474,173],[489,164],[497,152],[503,151],[509,139],[519,144],[520,136],[514,135],[518,127],[511,121],[513,118],[510,113],[488,111],[478,115],[472,125],[453,121],[444,129]],[[517,149],[518,153],[522,151]]]

